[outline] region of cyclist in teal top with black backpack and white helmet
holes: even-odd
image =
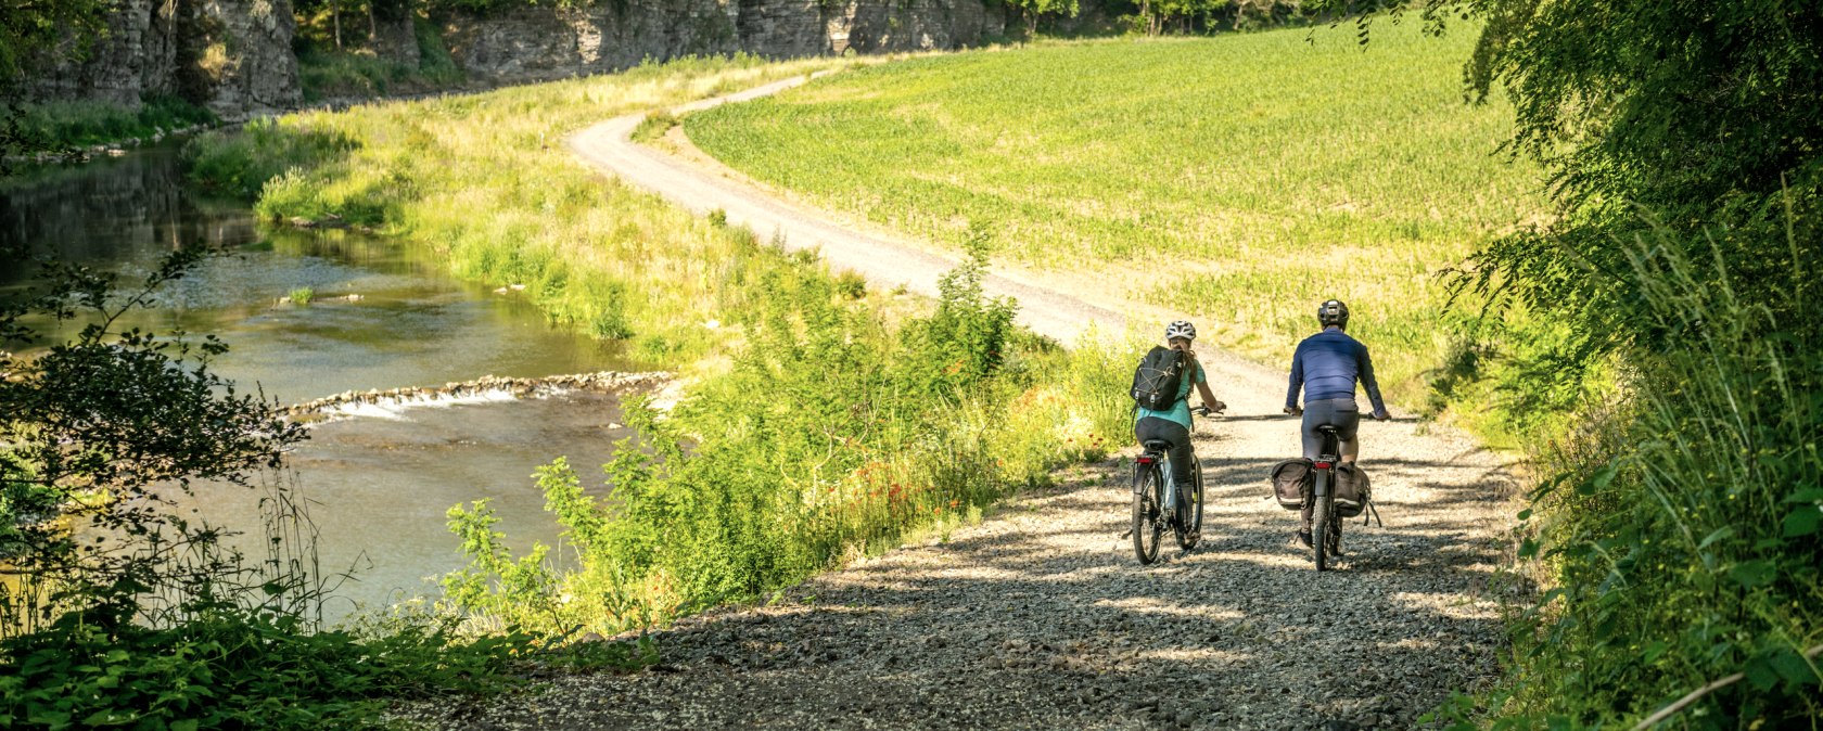
[[[1192,341],[1196,341],[1194,324],[1181,319],[1170,323],[1165,326],[1167,346],[1154,346],[1134,372],[1134,438],[1141,445],[1152,439],[1169,441],[1172,465],[1194,465],[1196,459],[1190,452],[1190,385],[1194,383],[1203,396],[1205,410],[1229,408],[1209,390],[1203,365],[1190,350]],[[1187,490],[1190,476],[1189,468],[1172,470],[1172,481],[1179,490]]]

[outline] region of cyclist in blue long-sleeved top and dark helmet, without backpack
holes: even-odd
[[[1322,450],[1318,427],[1336,428],[1336,441],[1344,463],[1354,463],[1360,456],[1360,407],[1354,405],[1354,383],[1367,388],[1373,403],[1375,421],[1385,421],[1385,401],[1380,399],[1380,383],[1373,377],[1373,359],[1367,346],[1347,335],[1349,306],[1340,299],[1316,306],[1316,321],[1323,330],[1298,343],[1291,357],[1291,390],[1285,392],[1285,414],[1303,414],[1303,458],[1316,459]],[[1303,390],[1303,408],[1298,408],[1298,390]],[[1311,545],[1311,505],[1303,505],[1298,541]]]

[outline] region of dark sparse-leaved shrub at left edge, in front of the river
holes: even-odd
[[[304,439],[301,425],[210,372],[221,341],[113,330],[210,253],[170,253],[124,297],[111,275],[47,264],[47,292],[0,306],[0,345],[35,341],[29,315],[89,321],[31,357],[0,352],[0,556],[16,576],[0,585],[0,636],[69,614],[155,623],[148,613],[160,607],[148,596],[175,611],[248,589],[257,603],[295,596],[250,587],[241,561],[219,551],[224,532],[184,518],[171,498],[193,481],[248,487]]]

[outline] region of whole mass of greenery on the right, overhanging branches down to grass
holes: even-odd
[[[1814,726],[1823,11],[1420,7],[1433,29],[1458,11],[1486,22],[1468,91],[1506,91],[1508,151],[1546,168],[1557,202],[1484,244],[1457,286],[1555,323],[1546,366],[1502,386],[1571,394],[1540,408],[1573,414],[1526,512],[1550,589],[1515,623],[1526,653],[1455,713],[1495,727],[1659,709],[1695,729]],[[1573,397],[1606,379],[1606,399]]]

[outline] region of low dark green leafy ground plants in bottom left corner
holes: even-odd
[[[385,702],[518,687],[525,634],[467,638],[417,618],[390,633],[310,633],[295,616],[199,607],[170,627],[66,614],[0,642],[0,726],[78,729],[379,727]]]

